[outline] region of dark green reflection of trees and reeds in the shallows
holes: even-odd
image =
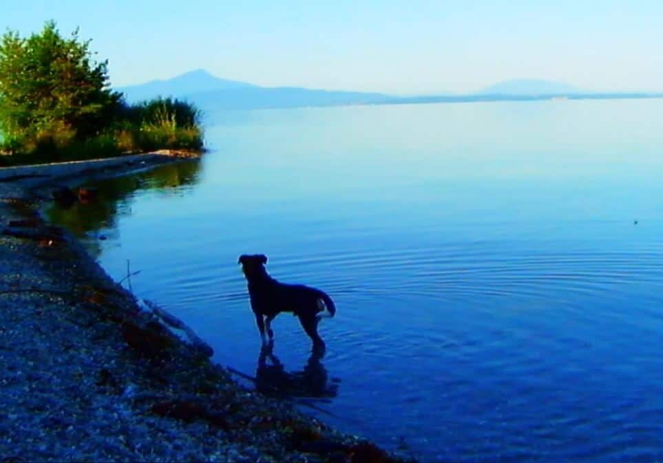
[[[79,238],[85,238],[88,233],[101,229],[109,237],[116,237],[118,217],[131,213],[132,193],[154,189],[169,196],[184,195],[186,190],[179,187],[195,185],[199,172],[200,161],[192,160],[86,184],[98,189],[97,200],[87,204],[76,202],[68,208],[52,203],[45,215],[50,222],[65,226]],[[95,257],[101,253],[101,246],[96,239],[87,240],[86,244]]]

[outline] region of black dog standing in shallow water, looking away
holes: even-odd
[[[324,349],[324,341],[317,334],[317,324],[326,317],[333,317],[336,306],[331,298],[321,290],[304,285],[280,283],[267,274],[264,266],[267,257],[262,254],[241,255],[238,263],[249,282],[249,299],[255,314],[262,343],[268,345],[274,338],[271,322],[281,312],[293,312],[302,327],[313,341],[314,349]]]

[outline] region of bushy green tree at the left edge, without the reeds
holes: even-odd
[[[53,21],[27,39],[0,39],[0,131],[21,147],[57,145],[103,131],[120,104],[109,89],[107,61],[97,63],[90,41],[60,35]]]

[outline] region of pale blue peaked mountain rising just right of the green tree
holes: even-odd
[[[257,86],[246,82],[238,82],[237,80],[218,78],[209,74],[204,69],[196,69],[195,71],[186,72],[168,80],[152,80],[144,84],[120,87],[118,90],[125,94],[127,101],[135,103],[141,100],[156,98],[157,96],[181,97],[201,91],[247,88],[257,88]]]

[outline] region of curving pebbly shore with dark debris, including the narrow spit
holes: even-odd
[[[39,212],[53,188],[192,157],[0,169],[3,461],[414,461],[243,387]]]

